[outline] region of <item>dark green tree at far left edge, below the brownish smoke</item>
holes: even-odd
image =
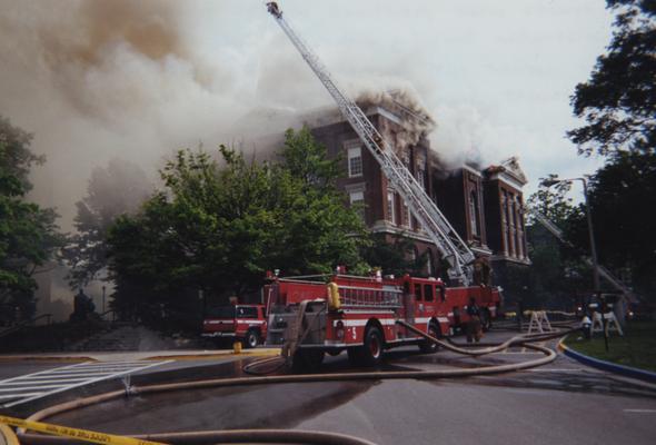
[[[52,209],[26,201],[28,175],[44,161],[30,150],[31,136],[0,117],[0,318],[34,310],[33,275],[61,244]]]

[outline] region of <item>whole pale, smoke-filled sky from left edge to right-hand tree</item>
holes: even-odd
[[[580,123],[569,97],[610,40],[604,1],[279,4],[349,95],[411,91],[437,122],[438,155],[518,156],[526,194],[600,166],[565,132]],[[47,155],[33,198],[67,230],[95,167],[127,159],[155,180],[176,149],[258,149],[243,141],[284,130],[245,116],[330,103],[261,1],[0,0],[0,115]]]

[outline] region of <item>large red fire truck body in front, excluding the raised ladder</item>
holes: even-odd
[[[380,363],[385,349],[415,344],[431,353],[436,345],[402,326],[405,322],[434,337],[446,337],[468,320],[474,298],[484,327],[500,306],[495,287],[447,288],[440,279],[334,275],[278,278],[269,276],[265,298],[269,308],[267,344],[282,345],[295,366],[312,368],[324,354],[347,350],[365,366]]]

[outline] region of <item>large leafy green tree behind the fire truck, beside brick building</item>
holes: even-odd
[[[199,289],[210,298],[258,290],[266,270],[361,268],[364,226],[344,206],[336,161],[307,128],[286,134],[280,158],[179,151],[161,171],[165,189],[109,230],[115,307],[143,315],[163,304],[166,313]]]

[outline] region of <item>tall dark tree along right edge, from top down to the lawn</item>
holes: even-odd
[[[606,164],[592,178],[589,204],[602,264],[628,269],[638,290],[656,293],[656,236],[650,202],[656,189],[656,3],[607,0],[616,12],[608,51],[576,87],[574,113],[586,125],[568,132],[578,152]],[[589,249],[578,212],[568,234]]]

